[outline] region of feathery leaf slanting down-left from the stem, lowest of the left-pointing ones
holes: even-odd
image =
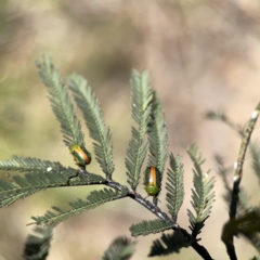
[[[56,212],[47,211],[47,213],[42,217],[31,217],[31,219],[35,220],[35,222],[30,224],[54,226],[60,222],[72,218],[75,214],[81,213],[84,210],[94,209],[105,203],[121,198],[126,195],[127,195],[126,193],[118,194],[118,192],[115,192],[110,188],[93,191],[87,196],[86,200],[77,199],[75,202],[68,203],[68,205],[73,209],[64,211],[57,207],[53,207],[53,209]]]

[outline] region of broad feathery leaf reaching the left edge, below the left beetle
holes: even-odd
[[[50,170],[50,168],[48,168]],[[69,185],[90,185],[105,183],[105,179],[100,176],[89,173],[88,177],[78,173],[78,170],[63,168],[61,170],[37,171],[26,173],[24,177],[13,176],[11,182],[0,180],[0,208],[8,207],[18,199],[28,197],[37,192],[49,187],[60,187]]]

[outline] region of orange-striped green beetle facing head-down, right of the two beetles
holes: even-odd
[[[160,172],[154,167],[150,166],[144,172],[144,190],[150,196],[157,196],[160,191]]]

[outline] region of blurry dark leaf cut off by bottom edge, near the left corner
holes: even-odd
[[[37,226],[35,232],[37,235],[30,234],[26,239],[24,260],[44,260],[48,257],[51,247],[52,229]]]

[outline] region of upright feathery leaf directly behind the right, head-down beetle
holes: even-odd
[[[153,93],[152,113],[150,118],[148,143],[150,156],[148,165],[155,166],[160,172],[160,181],[165,171],[165,164],[168,157],[166,121],[162,115],[162,105],[156,92]],[[160,183],[158,183],[160,186]]]

